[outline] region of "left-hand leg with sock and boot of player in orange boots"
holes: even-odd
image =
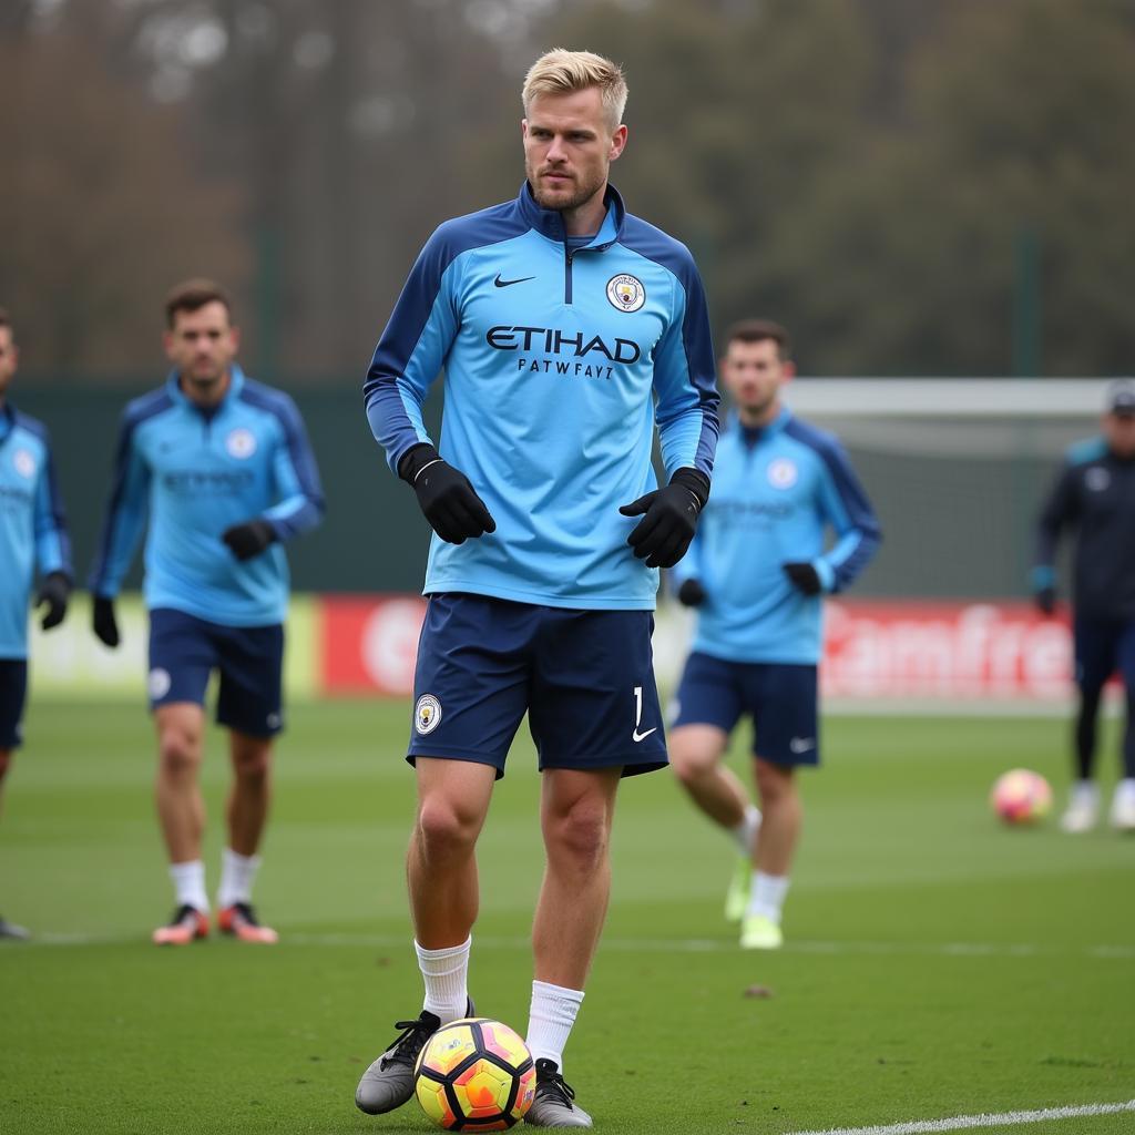
[[[204,738],[204,711],[193,701],[174,701],[154,711],[158,733],[158,777],[154,799],[169,854],[177,910],[153,940],[159,945],[185,945],[209,931],[201,840],[205,806],[199,785]]]

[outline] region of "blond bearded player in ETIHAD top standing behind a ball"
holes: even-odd
[[[527,1119],[591,1124],[564,1083],[563,1049],[606,913],[615,790],[666,763],[650,650],[657,569],[693,535],[717,436],[693,261],[608,183],[627,144],[625,100],[620,68],[599,56],[557,49],[532,65],[519,195],[434,233],[367,377],[375,436],[435,532],[407,755],[426,995],[359,1084],[355,1102],[371,1113],[410,1098],[422,1045],[472,1008],[474,847],[528,711],[546,867]],[[436,448],[422,403],[443,368]]]

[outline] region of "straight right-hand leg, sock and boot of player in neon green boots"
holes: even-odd
[[[791,766],[757,757],[755,772],[762,821],[754,849],[755,873],[741,926],[741,945],[776,949],[783,941],[781,907],[788,892],[788,874],[800,838],[804,809]]]

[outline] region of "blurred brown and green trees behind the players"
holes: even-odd
[[[6,0],[0,303],[28,369],[161,365],[187,275],[266,378],[358,381],[422,241],[515,193],[519,89],[624,64],[614,180],[720,329],[815,375],[1130,373],[1135,0]]]

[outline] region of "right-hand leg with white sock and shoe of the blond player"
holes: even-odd
[[[622,770],[548,768],[540,798],[547,861],[532,924],[536,969],[528,1046],[536,1060],[536,1127],[590,1127],[564,1083],[562,1052],[611,897],[611,824]]]

